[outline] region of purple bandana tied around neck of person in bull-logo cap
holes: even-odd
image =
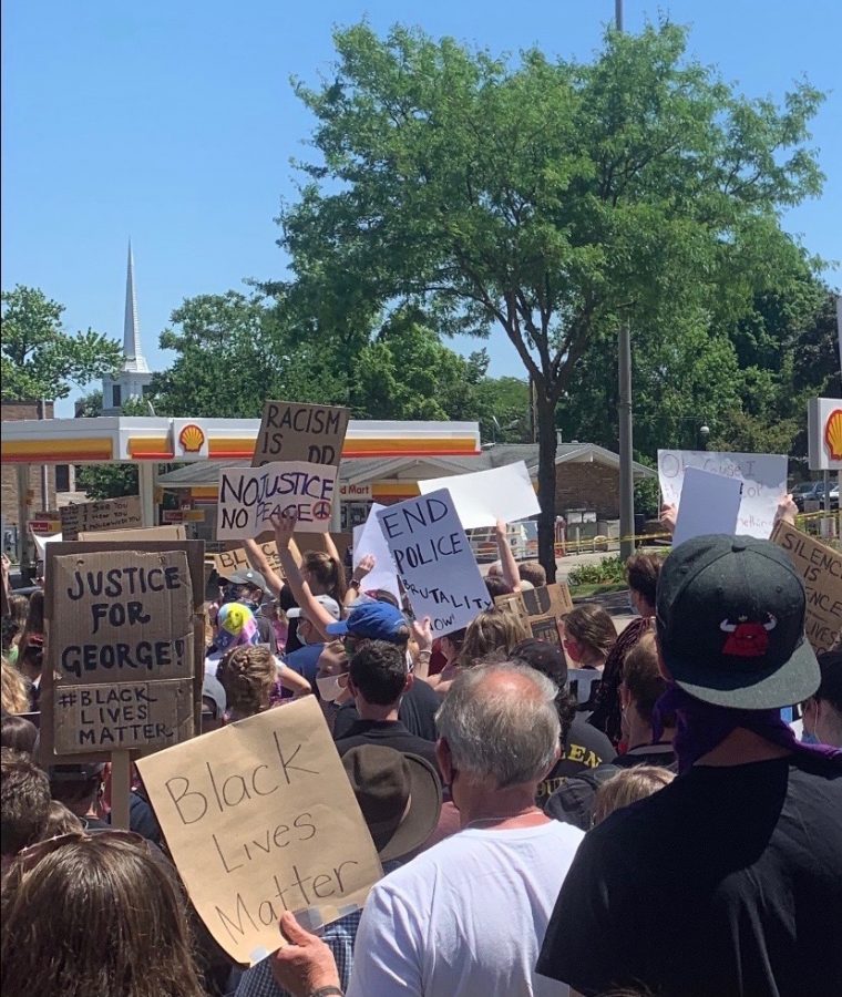
[[[830,758],[842,764],[842,749],[830,744],[805,744],[792,728],[781,720],[779,710],[732,710],[695,699],[689,692],[670,685],[653,710],[653,741],[664,732],[664,718],[677,718],[672,742],[678,757],[678,771],[686,772],[695,761],[712,751],[728,734],[742,727],[779,748],[812,758]]]

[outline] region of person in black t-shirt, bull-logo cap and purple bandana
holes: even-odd
[[[842,752],[780,708],[819,686],[787,554],[700,536],[661,571],[657,638],[679,777],[591,831],[537,972],[583,995],[842,993]],[[600,941],[602,939],[602,943]]]

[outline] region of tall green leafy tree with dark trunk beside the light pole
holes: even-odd
[[[747,100],[672,24],[609,31],[589,64],[366,24],[335,42],[333,81],[297,85],[318,161],[279,218],[289,301],[322,342],[404,301],[440,331],[507,336],[534,386],[552,578],[555,411],[577,361],[623,320],[659,335],[748,307],[787,241],[777,209],[820,189],[804,142],[821,95]]]

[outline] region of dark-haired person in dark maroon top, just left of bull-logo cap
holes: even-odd
[[[605,659],[603,678],[594,698],[594,711],[588,717],[588,723],[606,733],[615,746],[619,744],[623,736],[619,702],[623,662],[640,637],[651,628],[663,564],[664,558],[655,554],[634,554],[626,562],[629,607],[637,618],[626,626]]]

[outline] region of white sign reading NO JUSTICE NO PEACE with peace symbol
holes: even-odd
[[[259,536],[271,530],[271,516],[291,512],[301,533],[327,533],[336,474],[336,467],[305,461],[222,471],[216,538]]]

